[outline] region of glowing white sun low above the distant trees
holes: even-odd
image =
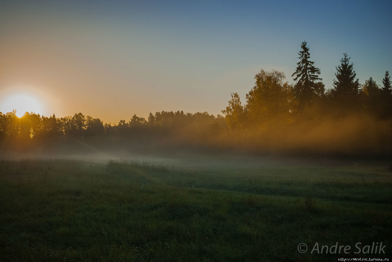
[[[29,93],[15,93],[0,100],[0,112],[7,113],[16,110],[16,116],[22,117],[25,112],[42,113],[40,99]]]

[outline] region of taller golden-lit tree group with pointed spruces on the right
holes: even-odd
[[[260,132],[276,124],[314,122],[319,118],[342,118],[368,114],[377,119],[392,117],[392,88],[389,71],[383,86],[370,77],[359,83],[354,65],[347,53],[336,66],[333,88],[325,90],[319,78],[321,70],[310,61],[309,47],[303,41],[298,52],[299,62],[292,74],[296,83],[285,81],[283,72],[261,70],[254,78],[255,86],[241,105],[238,93],[232,93],[222,113],[231,132]]]

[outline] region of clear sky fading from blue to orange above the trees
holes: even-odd
[[[360,83],[392,72],[392,1],[1,1],[0,111],[118,123],[156,111],[222,114],[254,75],[289,83],[302,41],[331,88],[344,52]],[[9,103],[7,103],[8,105]],[[32,109],[38,110],[38,109]]]

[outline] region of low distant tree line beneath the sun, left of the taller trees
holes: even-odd
[[[103,123],[82,113],[72,117],[45,117],[26,112],[18,118],[16,112],[0,112],[0,142],[2,144],[25,144],[29,142],[54,142],[56,140],[110,141],[148,140],[149,138],[216,137],[225,131],[225,120],[207,112],[184,113],[183,111],[160,111],[150,113],[148,118],[133,115],[129,121],[118,124]],[[173,142],[173,141],[172,141]]]

